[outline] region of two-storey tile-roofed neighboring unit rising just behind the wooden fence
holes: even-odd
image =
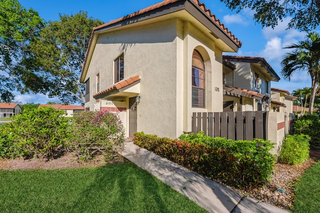
[[[279,79],[263,57],[223,55],[223,111],[269,111],[270,81]]]

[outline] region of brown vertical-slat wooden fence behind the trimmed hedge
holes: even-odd
[[[193,112],[192,132],[232,140],[267,139],[268,111]]]

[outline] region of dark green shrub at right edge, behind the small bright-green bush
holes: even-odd
[[[303,115],[294,120],[295,133],[310,136],[310,146],[320,147],[320,117],[314,115]]]

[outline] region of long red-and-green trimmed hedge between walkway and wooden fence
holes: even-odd
[[[133,140],[190,170],[239,188],[263,185],[272,174],[275,162],[269,153],[273,144],[262,139],[232,141],[199,132],[171,140],[135,132]]]

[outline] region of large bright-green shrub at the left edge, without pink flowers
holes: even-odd
[[[4,157],[51,159],[67,138],[65,112],[52,107],[32,108],[0,127],[0,154]]]

